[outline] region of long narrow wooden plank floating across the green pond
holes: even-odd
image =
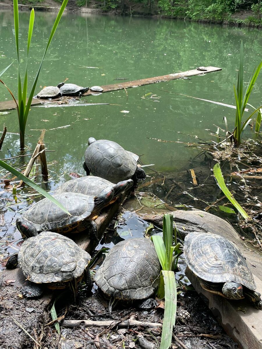
[[[168,74],[168,75],[148,77],[147,79],[126,81],[126,82],[121,82],[121,83],[117,83],[117,84],[105,85],[105,86],[101,86],[101,87],[104,89],[103,90],[103,93],[104,93],[104,92],[127,89],[127,88],[131,88],[131,87],[139,87],[139,86],[143,86],[143,85],[154,84],[157,82],[164,82],[164,81],[169,81],[169,80],[181,79],[182,77],[189,77],[189,76],[194,76],[194,75],[218,72],[218,71],[222,70],[221,68],[217,68],[217,67],[205,67],[205,69],[206,70],[204,70],[204,71],[192,69],[192,70],[187,70],[186,72],[181,72],[181,73],[172,73],[172,74]],[[82,95],[82,97],[89,96],[92,93],[94,93],[94,92],[88,90],[86,93],[84,93]],[[32,100],[31,105],[38,105],[38,104],[43,104],[43,103],[54,103],[54,102],[57,103],[57,101],[59,101],[59,98],[54,98],[52,101],[47,101],[46,99],[36,98],[36,99]],[[61,106],[63,106],[63,104]],[[15,105],[14,101],[0,102],[0,111],[12,110],[12,109],[16,109],[16,105]]]

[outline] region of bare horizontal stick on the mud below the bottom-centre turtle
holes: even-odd
[[[162,324],[158,324],[155,322],[145,322],[145,321],[137,321],[137,320],[125,320],[122,322],[119,321],[93,321],[93,320],[64,320],[61,322],[61,326],[63,327],[119,327],[119,328],[128,328],[132,326],[143,326],[143,327],[152,327],[152,328],[162,328]]]

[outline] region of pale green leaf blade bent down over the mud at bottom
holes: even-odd
[[[176,320],[176,280],[174,272],[162,270],[162,273],[165,282],[165,313],[160,349],[168,349],[171,345]]]

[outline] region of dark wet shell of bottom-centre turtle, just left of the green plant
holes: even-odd
[[[150,297],[158,287],[160,270],[153,242],[133,238],[111,248],[94,280],[109,297],[144,299]]]

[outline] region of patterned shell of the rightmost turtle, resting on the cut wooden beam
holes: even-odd
[[[234,281],[256,289],[253,275],[239,249],[229,240],[211,233],[191,232],[184,240],[188,268],[205,281]]]

